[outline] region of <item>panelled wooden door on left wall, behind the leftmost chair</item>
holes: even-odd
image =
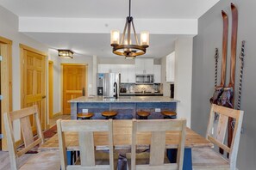
[[[46,114],[46,55],[21,46],[22,66],[22,108],[37,105],[43,130],[47,128]],[[31,124],[35,130],[34,118]]]

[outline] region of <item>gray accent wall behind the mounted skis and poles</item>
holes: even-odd
[[[239,29],[236,58],[236,84],[235,106],[237,103],[238,82],[240,73],[240,42],[246,40],[246,57],[243,77],[241,110],[245,111],[243,128],[240,137],[240,149],[238,153],[237,167],[241,170],[253,170],[256,168],[256,1],[232,1],[239,10]],[[230,0],[220,1],[212,9],[198,20],[198,35],[194,38],[193,46],[193,76],[192,76],[192,112],[191,127],[204,135],[209,116],[209,98],[214,92],[215,73],[215,47],[222,54],[222,15],[224,9],[228,12],[229,26],[231,26]],[[228,68],[227,83],[229,82],[230,60],[230,33],[228,37]],[[218,76],[220,80],[221,60],[219,58]],[[218,82],[220,83],[220,82]]]

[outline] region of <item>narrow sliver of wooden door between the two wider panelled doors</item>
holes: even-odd
[[[53,61],[48,62],[49,118],[53,118]]]

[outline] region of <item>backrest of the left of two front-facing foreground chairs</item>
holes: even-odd
[[[113,121],[109,120],[57,120],[61,169],[114,170]],[[93,132],[106,131],[109,135],[109,165],[95,164]],[[78,132],[81,165],[67,166],[65,132]]]

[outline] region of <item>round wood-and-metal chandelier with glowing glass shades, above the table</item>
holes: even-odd
[[[131,27],[134,31],[135,45],[132,45]],[[126,34],[127,32],[127,34]],[[135,58],[146,53],[146,48],[149,45],[149,33],[143,31],[140,33],[140,45],[137,34],[134,28],[133,17],[131,16],[131,0],[129,0],[129,15],[126,18],[126,23],[122,33],[122,39],[119,44],[120,32],[119,30],[111,31],[111,46],[113,46],[113,53],[125,58]]]

